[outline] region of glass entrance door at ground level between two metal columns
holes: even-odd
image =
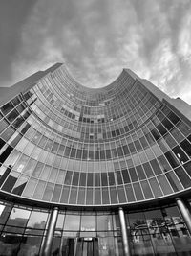
[[[99,256],[98,238],[78,238],[75,256]]]

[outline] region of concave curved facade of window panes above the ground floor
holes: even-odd
[[[59,68],[0,107],[2,191],[100,205],[160,198],[190,188],[191,128],[169,105],[125,71],[97,90],[79,86],[61,76],[63,72]],[[82,108],[86,120],[80,121]],[[79,119],[69,115],[76,117],[74,111]]]

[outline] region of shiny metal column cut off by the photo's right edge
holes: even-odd
[[[191,235],[191,213],[181,198],[176,198],[176,201],[180,209],[180,213],[183,218],[183,221],[185,222],[187,229]]]

